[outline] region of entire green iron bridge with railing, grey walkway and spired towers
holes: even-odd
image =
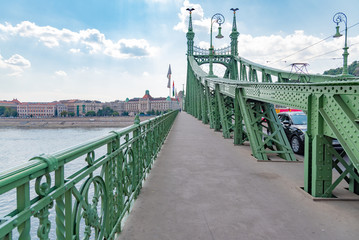
[[[34,238],[32,226],[39,239],[357,236],[357,202],[316,205],[311,199],[334,199],[343,184],[359,194],[359,79],[285,72],[238,56],[235,11],[228,48],[200,49],[194,35],[190,11],[185,111],[204,124],[186,113],[177,117],[178,111],[136,119],[121,131],[2,172],[0,194],[15,192],[16,207],[0,216],[0,239]],[[225,67],[224,76],[214,76],[212,66],[211,74],[202,70],[213,63]],[[303,171],[273,104],[308,115]],[[228,144],[232,139],[239,146]],[[157,156],[162,165],[148,175]],[[278,157],[293,164],[271,163]],[[68,176],[66,166],[76,159],[84,166]],[[152,181],[147,190],[146,178]],[[298,185],[303,190],[293,192]]]

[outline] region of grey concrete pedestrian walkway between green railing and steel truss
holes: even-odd
[[[358,239],[358,201],[313,201],[303,163],[257,162],[180,113],[121,240]]]

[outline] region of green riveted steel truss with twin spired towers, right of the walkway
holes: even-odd
[[[301,109],[308,116],[305,191],[314,197],[333,197],[344,180],[350,191],[359,194],[359,79],[292,73],[239,57],[235,14],[231,46],[214,50],[213,63],[226,67],[224,76],[209,77],[200,67],[209,63],[209,52],[193,46],[191,21],[186,111],[235,144],[249,141],[258,160],[277,155],[296,161],[274,104]],[[339,140],[343,151],[333,148],[333,139]]]

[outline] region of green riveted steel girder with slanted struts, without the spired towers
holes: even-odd
[[[293,80],[289,79],[287,72],[259,67],[249,61],[243,62],[242,58],[238,60],[240,80],[233,81],[207,78],[189,56],[188,67],[193,71],[195,81],[204,86],[207,100],[212,101],[212,104],[207,101],[212,127],[214,114],[210,114],[210,106],[218,106],[215,108],[219,111],[217,116],[226,119],[223,99],[230,97],[234,108],[231,127],[235,144],[242,144],[248,137],[253,156],[257,159],[266,160],[271,153],[277,153],[287,160],[294,160],[272,104],[301,109],[308,115],[305,191],[315,197],[332,197],[332,191],[344,180],[350,191],[359,194],[359,80],[322,75],[294,75],[297,79]],[[261,81],[258,70],[262,74]],[[275,83],[272,83],[273,76],[277,77]],[[223,109],[220,110],[219,106]],[[229,128],[221,123],[220,129],[228,137]],[[268,129],[267,133],[265,129]],[[332,147],[333,139],[339,140],[344,153],[338,153]],[[343,158],[345,154],[349,161]],[[339,172],[336,179],[333,179],[333,170]]]

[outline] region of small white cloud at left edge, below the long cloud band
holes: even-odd
[[[5,69],[9,76],[21,76],[30,67],[31,62],[19,54],[14,54],[9,59],[3,59],[0,55],[0,68]]]

